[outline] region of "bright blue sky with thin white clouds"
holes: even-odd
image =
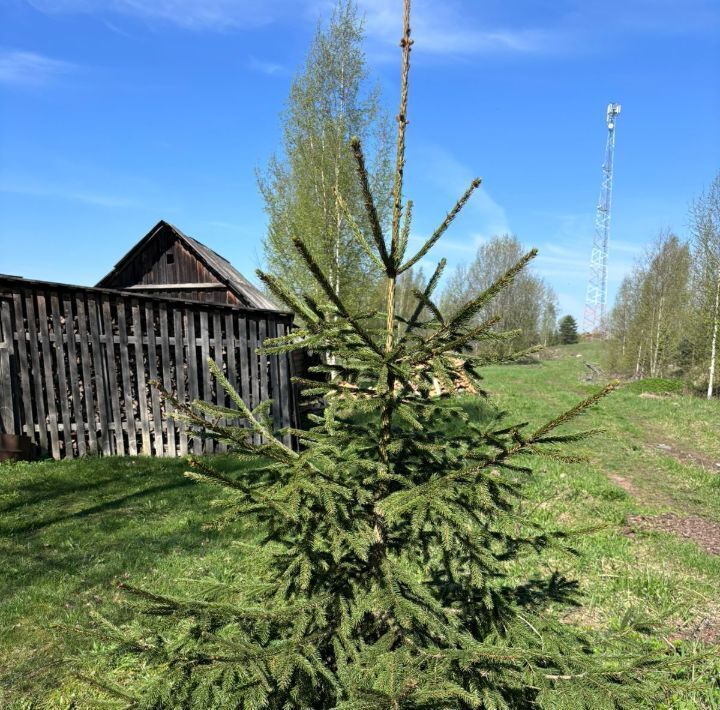
[[[401,0],[359,0],[390,111]],[[0,272],[93,284],[159,219],[248,276],[255,171],[323,0],[0,0]],[[610,290],[720,169],[716,0],[415,0],[407,194],[417,239],[481,192],[431,253],[495,233],[540,249],[582,315],[609,101]],[[430,266],[430,264],[428,264]]]

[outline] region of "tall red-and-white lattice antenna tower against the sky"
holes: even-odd
[[[615,128],[620,114],[620,104],[608,104],[606,123],[608,128],[603,179],[595,217],[595,236],[590,256],[590,278],[585,297],[583,330],[591,335],[605,337],[607,329],[607,265],[610,242],[610,213],[612,208],[613,163],[615,159]]]

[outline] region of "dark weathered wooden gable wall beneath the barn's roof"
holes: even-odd
[[[167,284],[215,284],[215,288],[162,289]],[[112,277],[112,282],[103,284],[108,288],[125,289],[135,287],[158,296],[189,298],[213,303],[239,305],[237,296],[190,253],[172,234],[171,230],[160,231],[147,246]]]

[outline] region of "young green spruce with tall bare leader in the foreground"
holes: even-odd
[[[122,630],[108,624],[118,650],[142,659],[132,693],[105,686],[121,703],[247,710],[655,706],[640,683],[647,661],[610,644],[597,652],[557,621],[553,607],[572,602],[573,583],[556,573],[522,580],[511,573],[522,555],[562,544],[561,535],[518,515],[528,462],[541,455],[562,460],[559,445],[581,435],[558,429],[612,387],[535,430],[499,414],[474,421],[451,395],[430,396],[433,378],[452,390],[454,368],[477,382],[482,361],[466,350],[509,336],[493,330],[496,318],[478,324],[473,316],[535,252],[450,318],[433,300],[441,261],[415,292],[414,311],[396,315],[398,278],[425,257],[480,182],[409,255],[412,204],[403,198],[409,4],[388,237],[362,147],[353,140],[349,148],[373,225],[372,241],[361,230],[355,236],[384,274],[383,324],[338,298],[302,235],[294,248],[329,305],[299,298],[260,273],[303,321],[265,349],[335,356],[335,377],[305,383],[327,407],[309,430],[293,432],[301,444],[293,450],[271,430],[266,406],[249,411],[213,362],[233,407],[175,403],[186,421],[244,461],[232,475],[195,460],[187,475],[227,491],[231,517],[252,520],[263,540],[242,556],[243,571],[230,581],[219,572],[201,599],[121,585],[145,607],[142,623]],[[228,420],[236,425],[218,424]],[[247,427],[264,443],[251,443]],[[130,666],[127,658],[123,664]]]

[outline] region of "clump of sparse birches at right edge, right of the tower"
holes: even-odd
[[[634,377],[718,389],[720,174],[692,205],[690,238],[661,232],[621,283],[610,313],[612,366]]]

